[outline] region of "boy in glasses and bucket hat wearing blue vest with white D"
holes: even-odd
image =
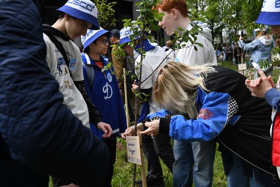
[[[100,28],[97,31],[88,30],[81,38],[83,52],[83,77],[87,94],[99,110],[102,120],[111,125],[113,135],[104,139],[109,149],[109,168],[106,176],[105,186],[111,186],[116,162],[117,135],[126,129],[126,117],[123,101],[121,98],[118,81],[114,74],[113,66],[102,71],[108,61],[102,56],[107,53],[110,32]],[[102,133],[91,125],[92,131],[98,136]]]

